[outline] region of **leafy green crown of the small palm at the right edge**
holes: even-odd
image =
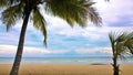
[[[133,54],[133,32],[122,32],[120,34],[109,33],[113,55],[124,57],[124,54]]]

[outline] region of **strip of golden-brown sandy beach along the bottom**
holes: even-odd
[[[8,75],[11,64],[0,64],[0,75]],[[19,75],[113,75],[111,65],[22,64]],[[121,65],[121,75],[133,75],[132,65]]]

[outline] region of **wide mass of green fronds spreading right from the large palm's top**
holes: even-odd
[[[64,19],[71,26],[74,23],[85,26],[88,18],[99,24],[101,18],[91,7],[92,4],[90,0],[47,0],[45,11]]]

